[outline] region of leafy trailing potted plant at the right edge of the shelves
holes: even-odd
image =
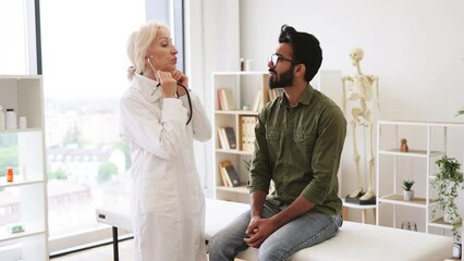
[[[457,212],[455,199],[459,196],[460,188],[464,189],[463,174],[459,172],[461,163],[447,156],[443,156],[436,163],[439,172],[431,182],[432,188],[437,189],[437,207],[432,210],[432,216],[436,216],[438,210],[442,211],[443,221],[452,224],[453,236],[460,240],[461,215]]]

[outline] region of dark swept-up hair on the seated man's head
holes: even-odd
[[[310,82],[322,63],[322,49],[319,40],[312,34],[297,32],[289,25],[282,25],[279,42],[286,42],[293,49],[293,61],[306,66],[305,79]]]

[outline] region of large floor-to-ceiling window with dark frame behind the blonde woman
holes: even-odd
[[[40,3],[39,53],[34,3]],[[118,136],[126,40],[146,17],[167,22],[182,70],[182,0],[0,1],[0,74],[44,75],[50,251],[96,240],[82,236],[100,231],[95,207],[129,194],[130,158]]]

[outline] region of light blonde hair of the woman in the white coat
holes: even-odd
[[[132,79],[134,74],[144,73],[145,69],[145,55],[148,52],[148,48],[155,40],[156,34],[159,28],[164,28],[170,32],[168,25],[160,21],[149,21],[145,25],[141,26],[138,30],[131,34],[127,39],[127,58],[132,63],[132,69],[127,70],[127,77]]]

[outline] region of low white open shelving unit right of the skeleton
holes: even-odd
[[[430,183],[442,156],[463,162],[464,123],[379,121],[377,127],[377,225],[401,227],[402,222],[414,222],[418,231],[448,235],[451,225],[431,214],[436,191]],[[408,152],[400,149],[402,138]],[[403,200],[404,179],[415,181],[411,201]]]

